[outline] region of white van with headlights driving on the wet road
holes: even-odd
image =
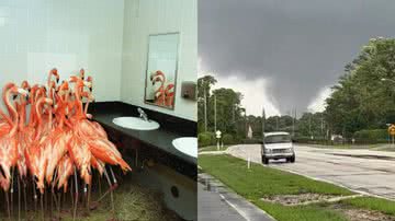
[[[262,147],[262,163],[268,164],[270,159],[286,159],[286,162],[295,162],[295,151],[292,139],[287,132],[266,132]]]

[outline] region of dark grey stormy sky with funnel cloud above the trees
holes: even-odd
[[[199,0],[200,74],[244,93],[248,114],[323,111],[376,36],[395,36],[395,0]]]

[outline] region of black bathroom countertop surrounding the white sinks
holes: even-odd
[[[124,136],[129,136],[133,139],[136,139],[145,144],[148,144],[150,147],[157,148],[161,151],[165,151],[173,156],[176,156],[179,160],[185,161],[192,165],[198,164],[198,160],[195,158],[192,158],[190,155],[187,155],[180,151],[178,151],[172,146],[172,140],[180,137],[195,137],[194,136],[188,136],[182,132],[178,131],[171,131],[166,125],[162,126],[162,123],[159,120],[156,120],[159,123],[160,127],[156,130],[134,130],[134,129],[127,129],[120,127],[115,125],[112,120],[116,117],[125,117],[125,116],[133,116],[136,117],[137,114],[135,112],[131,112],[131,107],[127,104],[120,103],[120,102],[113,102],[111,104],[108,104],[102,106],[101,108],[90,108],[90,114],[93,116],[93,120],[98,121],[99,124],[103,125],[104,127],[109,127],[113,130],[116,130],[117,132],[121,132]],[[149,112],[149,111],[148,111]],[[148,117],[150,116],[150,113],[148,113]],[[180,125],[182,127],[182,125]]]

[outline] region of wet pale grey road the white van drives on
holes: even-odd
[[[261,163],[259,144],[229,147],[227,153]],[[269,166],[342,185],[356,191],[395,199],[395,152],[319,149],[295,146],[296,162]]]

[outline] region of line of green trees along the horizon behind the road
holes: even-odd
[[[264,131],[289,131],[295,137],[329,139],[330,135],[352,138],[357,131],[384,129],[395,123],[395,39],[372,38],[345,71],[326,100],[323,113],[291,115],[246,116],[241,106],[242,94],[233,89],[216,89],[213,75],[198,80],[199,132],[215,131],[246,138],[248,127],[253,137]],[[216,106],[216,108],[214,108]],[[216,120],[214,117],[216,109]],[[206,116],[206,119],[205,119]]]

